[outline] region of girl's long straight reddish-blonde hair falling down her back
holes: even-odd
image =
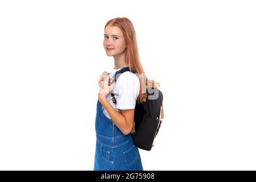
[[[140,89],[137,101],[139,103],[146,101],[146,88],[157,88],[160,86],[159,82],[150,80],[146,77],[141,61],[139,60],[139,52],[137,46],[137,38],[133,23],[128,18],[113,18],[110,19],[106,26],[116,26],[123,32],[126,44],[126,64],[129,65],[131,72],[136,72],[139,76]],[[144,83],[146,82],[146,85]]]

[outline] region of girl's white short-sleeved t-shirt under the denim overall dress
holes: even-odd
[[[113,77],[115,72],[119,71],[120,69],[122,68],[113,69],[113,71],[109,73],[109,76]],[[120,109],[135,109],[136,100],[139,96],[139,87],[138,76],[132,72],[124,72],[118,77],[117,81],[115,82],[115,87],[108,95],[107,100],[119,113]],[[114,93],[117,105],[113,103],[111,93]],[[106,117],[111,119],[103,106],[102,111]]]

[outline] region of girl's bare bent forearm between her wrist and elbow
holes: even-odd
[[[115,126],[117,126],[123,134],[129,134],[130,131],[129,127],[127,126],[125,117],[114,109],[114,107],[109,103],[106,97],[99,96],[99,101],[101,102],[102,106],[106,109],[106,111],[108,111],[108,114],[112,119],[113,123],[115,124]]]

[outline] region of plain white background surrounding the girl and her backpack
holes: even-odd
[[[255,1],[0,1],[0,169],[92,170],[104,26],[133,22],[164,119],[144,170],[256,169]]]

